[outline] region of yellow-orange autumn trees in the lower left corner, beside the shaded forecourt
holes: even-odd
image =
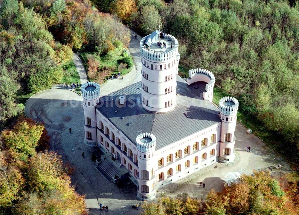
[[[71,169],[47,149],[43,125],[19,119],[1,133],[0,214],[87,214],[84,196],[71,186]]]

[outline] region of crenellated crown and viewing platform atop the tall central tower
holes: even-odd
[[[165,34],[165,39],[169,41],[167,46],[170,47],[170,43],[173,44],[172,48],[167,48],[167,49],[161,49],[161,50],[151,50],[150,47],[146,48],[144,46],[145,43],[149,43],[151,45],[152,43],[155,43],[156,41],[159,40],[159,35],[157,33],[158,31],[153,32],[150,35],[145,36],[144,38],[141,39],[140,41],[140,51],[141,55],[144,58],[147,58],[150,61],[155,61],[155,62],[161,62],[161,61],[167,61],[170,60],[173,57],[177,57],[179,54],[179,42],[178,40],[170,35],[170,34]]]

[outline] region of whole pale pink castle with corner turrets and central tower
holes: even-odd
[[[140,41],[141,82],[103,97],[97,83],[81,87],[84,141],[119,160],[141,199],[153,199],[159,187],[235,158],[237,99],[224,97],[216,107],[215,77],[206,69],[191,69],[187,79],[181,78],[178,41],[160,35],[155,31]]]

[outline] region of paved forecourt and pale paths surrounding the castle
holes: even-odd
[[[129,45],[130,53],[136,66],[132,72],[124,76],[124,80],[109,80],[101,85],[101,95],[106,95],[117,89],[141,80],[141,57],[139,41],[132,35]],[[76,56],[74,56],[76,58]],[[78,58],[77,58],[78,59]],[[81,67],[80,60],[75,61],[76,67]],[[82,70],[82,67],[81,67]],[[83,71],[83,70],[82,70]],[[139,71],[136,73],[136,71]],[[80,74],[80,73],[79,73]],[[117,83],[117,84],[116,84]],[[51,136],[53,150],[58,150],[65,162],[74,168],[72,183],[80,194],[86,194],[86,205],[89,214],[138,214],[140,210],[131,206],[140,202],[136,197],[136,186],[129,182],[118,188],[109,182],[91,161],[92,149],[83,143],[84,138],[84,113],[82,97],[68,89],[49,89],[32,96],[26,103],[25,114],[36,121],[43,121]],[[68,132],[72,128],[72,133]],[[268,168],[282,163],[280,171],[290,171],[288,164],[274,151],[266,146],[254,134],[246,134],[246,129],[240,123],[236,128],[236,161],[231,164],[216,163],[198,171],[184,179],[161,188],[170,196],[187,192],[191,196],[204,196],[207,191],[214,188],[223,188],[222,179],[227,172],[241,171],[251,174],[254,169]],[[246,146],[251,146],[251,152],[246,152]],[[85,158],[81,156],[85,153]],[[198,182],[206,183],[206,188],[199,188]],[[109,211],[99,211],[98,203],[107,205]]]

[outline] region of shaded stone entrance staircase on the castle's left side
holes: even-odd
[[[102,162],[96,167],[107,180],[117,182],[118,180],[123,180],[129,176],[129,171],[120,165],[119,161],[113,161],[111,156],[105,157]],[[118,179],[115,180],[115,175],[118,176]]]

